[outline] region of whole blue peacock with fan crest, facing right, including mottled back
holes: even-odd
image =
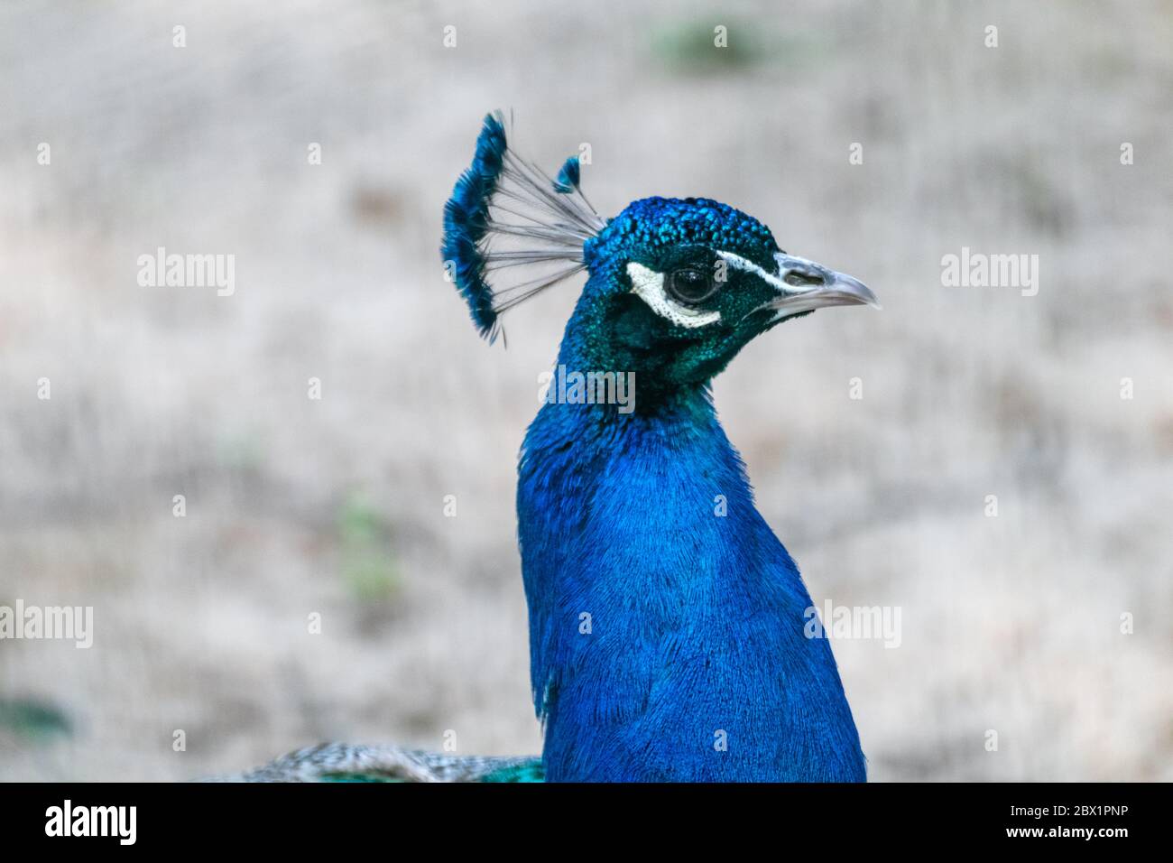
[[[782,251],[752,216],[647,197],[603,218],[582,161],[554,176],[484,117],[445,205],[449,281],[490,343],[585,271],[518,463],[517,531],[541,757],[327,744],[243,778],[862,782],[830,646],[754,506],[711,383],[751,339],[860,281]]]

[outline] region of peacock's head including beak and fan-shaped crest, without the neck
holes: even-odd
[[[769,229],[706,198],[650,197],[603,220],[571,156],[555,178],[518,157],[489,115],[445,209],[442,255],[490,339],[517,303],[586,270],[562,359],[633,371],[671,391],[704,384],[755,336],[833,305],[873,305],[857,279],[782,251]],[[506,277],[513,276],[511,279]]]

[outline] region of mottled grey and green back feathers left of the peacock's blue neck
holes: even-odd
[[[536,756],[447,755],[398,746],[321,743],[219,782],[541,782]]]

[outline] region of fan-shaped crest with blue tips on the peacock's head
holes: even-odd
[[[510,149],[500,112],[484,117],[473,163],[445,204],[440,254],[490,342],[503,312],[585,269],[583,243],[606,222],[578,182],[577,156],[551,180]]]

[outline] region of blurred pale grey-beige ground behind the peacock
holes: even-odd
[[[0,640],[0,778],[540,750],[516,452],[579,282],[490,348],[438,254],[499,107],[604,215],[716,197],[882,299],[716,384],[815,601],[901,608],[834,646],[874,780],[1173,778],[1173,4],[865,0],[0,8],[0,605],[94,608]]]

